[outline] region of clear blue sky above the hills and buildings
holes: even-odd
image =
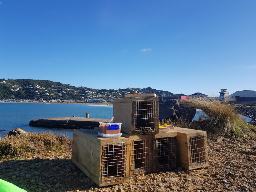
[[[0,79],[256,90],[255,10],[255,0],[0,0]]]

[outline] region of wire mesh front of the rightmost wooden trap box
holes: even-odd
[[[204,146],[204,135],[189,137],[191,151],[191,167],[199,167],[206,163],[206,152]]]

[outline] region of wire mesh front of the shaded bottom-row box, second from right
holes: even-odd
[[[155,171],[169,170],[176,167],[176,137],[164,137],[155,140]]]

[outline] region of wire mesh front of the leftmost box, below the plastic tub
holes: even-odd
[[[102,152],[101,183],[122,181],[127,172],[127,145],[124,143],[107,144]]]

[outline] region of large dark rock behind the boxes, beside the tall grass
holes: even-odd
[[[186,100],[167,99],[159,100],[159,120],[173,119],[177,120],[180,117],[192,121],[196,114],[196,108],[188,104]]]

